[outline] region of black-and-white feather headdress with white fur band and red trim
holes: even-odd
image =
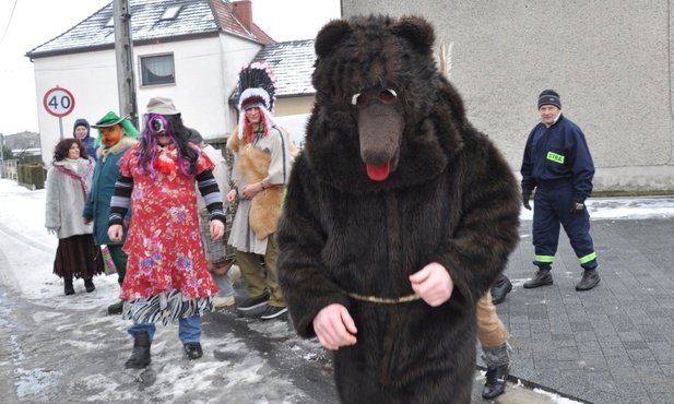
[[[276,78],[267,62],[244,66],[239,72],[239,138],[244,139],[246,110],[260,108],[263,115],[264,133],[276,126],[272,116],[276,100]]]

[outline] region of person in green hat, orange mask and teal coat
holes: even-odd
[[[115,190],[115,182],[119,178],[117,162],[129,147],[138,142],[139,132],[131,121],[120,118],[110,111],[100,118],[92,128],[98,129],[96,145],[96,169],[92,181],[92,190],[84,205],[84,223],[94,221],[94,239],[98,246],[107,246],[115,263],[118,282],[121,286],[127,273],[128,256],[122,251],[127,239],[127,229],[121,241],[113,242],[108,237],[108,218],[110,216],[110,199]],[[130,219],[130,212],[127,221]],[[127,222],[128,223],[128,222]],[[122,300],[108,306],[108,313],[119,314],[122,309]]]

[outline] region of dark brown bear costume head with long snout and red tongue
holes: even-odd
[[[334,20],[320,31],[305,152],[328,182],[352,192],[409,187],[461,147],[457,126],[470,123],[434,41],[416,16]]]

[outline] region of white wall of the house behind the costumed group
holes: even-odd
[[[150,98],[164,96],[174,99],[185,123],[201,132],[204,139],[228,134],[236,124],[228,97],[236,86],[241,66],[252,60],[259,49],[260,45],[230,35],[135,46],[140,124]],[[168,52],[174,55],[176,84],[141,87],[140,57]],[[76,118],[94,123],[110,110],[119,114],[115,50],[38,58],[34,60],[34,70],[45,164],[50,163],[54,146],[60,139],[59,119],[42,107],[49,88],[59,85],[75,98],[72,114],[62,118],[64,136],[72,136]]]

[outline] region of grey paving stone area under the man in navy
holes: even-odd
[[[674,219],[591,224],[601,283],[577,292],[581,269],[564,230],[554,284],[523,288],[536,268],[532,223],[522,222],[505,272],[513,289],[497,306],[511,376],[578,402],[674,403]]]

